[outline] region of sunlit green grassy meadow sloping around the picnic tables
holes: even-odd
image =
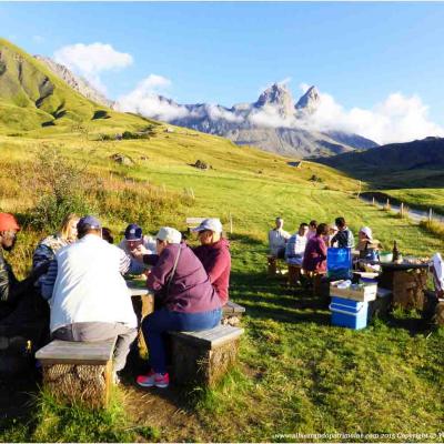
[[[54,191],[50,171],[63,162],[73,169],[71,186],[61,191],[73,193],[68,203],[94,212],[119,239],[130,222],[155,233],[162,224],[184,230],[186,216],[219,216],[229,231],[231,219],[230,294],[246,307],[239,364],[211,391],[140,390],[129,374],[109,412],[63,407],[37,392],[23,417],[0,416],[0,441],[312,441],[297,433],[363,434],[326,441],[442,441],[408,434],[443,431],[443,331],[428,335],[418,314],[402,312],[360,332],[333,327],[321,301],[269,279],[265,260],[276,215],[291,232],[300,222],[344,215],[354,232],[370,225],[387,249],[396,240],[404,254],[420,256],[443,252],[437,235],[356,200],[359,183],[327,167],[296,169],[289,159],[164,125],[149,140],[100,141],[118,131],[100,124],[0,137],[0,209],[26,224],[10,256],[16,270],[27,272],[36,243],[50,232],[50,220],[34,225],[32,218]],[[53,162],[46,163],[41,153],[51,152]],[[115,163],[114,153],[132,164]],[[211,168],[192,167],[196,160]],[[384,433],[393,436],[381,438]]]

